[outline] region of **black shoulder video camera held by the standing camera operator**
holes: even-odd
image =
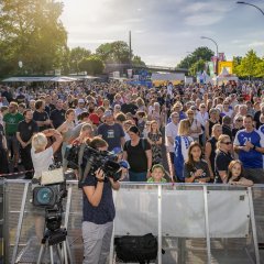
[[[117,155],[108,151],[98,151],[88,145],[73,145],[66,150],[65,158],[68,167],[79,170],[79,186],[85,183],[87,175],[96,176],[96,170],[101,168],[106,178],[119,180],[122,170],[117,163]]]

